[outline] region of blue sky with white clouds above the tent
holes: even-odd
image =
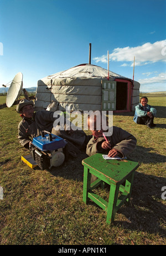
[[[19,71],[23,88],[81,63],[166,90],[165,0],[0,0],[0,87]]]

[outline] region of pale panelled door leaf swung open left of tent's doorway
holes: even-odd
[[[116,81],[102,80],[102,110],[116,110]]]

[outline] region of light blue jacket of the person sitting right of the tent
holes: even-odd
[[[137,119],[138,116],[139,117],[144,117],[147,116],[147,112],[152,112],[153,116],[156,115],[156,109],[154,109],[154,107],[152,107],[151,105],[146,106],[146,109],[143,109],[143,106],[141,103],[139,103],[136,107],[135,107],[135,114],[134,114],[134,122],[136,122],[137,124]]]

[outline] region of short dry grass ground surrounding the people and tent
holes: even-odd
[[[131,154],[139,161],[132,198],[106,224],[106,213],[94,203],[82,202],[84,152],[63,166],[41,171],[20,160],[28,153],[17,141],[20,116],[15,106],[0,110],[0,244],[31,245],[146,245],[166,244],[165,99],[149,96],[157,108],[155,129],[133,122],[133,113],[115,114],[113,125],[131,132],[137,147]],[[5,102],[0,97],[0,104]],[[100,194],[108,198],[108,188]]]

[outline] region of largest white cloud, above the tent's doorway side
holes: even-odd
[[[154,62],[166,62],[166,40],[157,41],[153,44],[145,43],[137,47],[115,48],[109,54],[109,60],[116,62],[130,62],[133,65],[135,56],[135,66],[146,65]],[[107,55],[94,58],[95,62],[107,63]],[[124,64],[123,64],[124,65]]]

